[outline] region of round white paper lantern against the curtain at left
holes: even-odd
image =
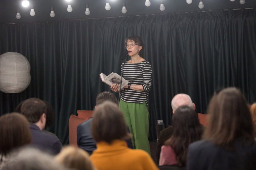
[[[0,56],[0,90],[19,93],[30,83],[30,64],[20,53],[7,52]]]

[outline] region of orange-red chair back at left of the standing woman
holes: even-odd
[[[69,121],[68,121],[68,132],[69,132],[69,145],[78,147],[77,146],[77,126],[82,123],[83,121],[88,120],[87,119],[82,119],[78,118],[76,115],[70,115]]]

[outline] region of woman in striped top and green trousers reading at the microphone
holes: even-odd
[[[122,89],[119,108],[123,112],[130,133],[133,134],[133,148],[145,150],[150,154],[147,105],[152,68],[150,63],[142,58],[144,45],[140,37],[135,35],[127,37],[125,47],[131,59],[124,63],[123,78],[129,84]],[[119,85],[111,86],[114,92],[118,92],[118,89]]]

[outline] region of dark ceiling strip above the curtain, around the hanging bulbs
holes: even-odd
[[[29,0],[31,2],[31,0]],[[88,1],[91,14],[85,15],[85,6]],[[35,16],[30,16],[30,6],[21,6],[22,0],[0,0],[0,23],[30,23],[56,20],[74,20],[87,18],[102,18],[113,16],[128,16],[155,13],[172,13],[184,11],[205,11],[214,9],[234,9],[256,7],[256,0],[245,0],[241,5],[239,0],[204,0],[204,8],[199,9],[199,0],[187,4],[186,0],[164,0],[165,11],[160,11],[160,0],[150,0],[151,5],[145,6],[145,0],[125,0],[127,13],[121,13],[123,0],[109,0],[111,9],[105,10],[106,0],[72,0],[73,11],[67,12],[68,2],[65,0],[33,0]],[[50,17],[51,4],[54,6],[55,17]],[[17,7],[21,19],[16,19]]]

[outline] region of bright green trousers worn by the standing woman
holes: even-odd
[[[148,142],[149,113],[146,103],[128,103],[120,99],[119,109],[123,112],[130,133],[133,134],[133,148],[145,150],[150,154]]]

